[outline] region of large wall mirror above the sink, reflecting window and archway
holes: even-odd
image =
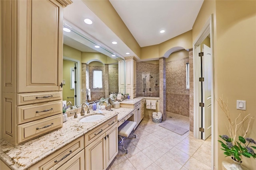
[[[118,93],[118,60],[124,59],[104,47],[96,48],[97,43],[81,30],[65,22],[63,27],[67,32],[63,31],[62,99],[77,106]]]

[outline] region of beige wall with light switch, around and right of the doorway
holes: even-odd
[[[256,1],[204,1],[193,26],[193,41],[198,36],[206,20],[213,15],[214,19],[214,85],[215,97],[228,99],[228,108],[234,120],[239,113],[241,117],[251,113],[256,116]],[[236,100],[246,100],[246,111],[236,109]],[[216,102],[215,102],[216,104]],[[214,131],[218,169],[221,169],[224,158],[218,135],[227,134],[227,123],[224,113],[215,105]],[[225,121],[224,121],[225,120]],[[248,120],[245,122],[248,123]],[[242,126],[238,134],[246,125]],[[255,120],[252,122],[246,137],[256,139]],[[255,160],[244,158],[244,166],[254,169]]]

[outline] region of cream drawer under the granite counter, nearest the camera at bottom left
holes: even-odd
[[[63,165],[65,162],[72,160],[72,157],[74,155],[81,155],[81,156],[84,155],[83,149],[84,149],[84,136],[62,147],[61,149],[57,150],[53,154],[50,154],[40,162],[28,168],[28,170],[57,169],[61,165]],[[80,151],[82,152],[82,154],[77,154]],[[82,158],[83,158],[82,160],[84,160],[84,156],[82,156]]]

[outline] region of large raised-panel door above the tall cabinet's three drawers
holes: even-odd
[[[38,0],[20,1],[19,8],[19,44],[26,46],[19,49],[18,92],[62,90],[62,6]]]

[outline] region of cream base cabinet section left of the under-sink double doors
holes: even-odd
[[[50,154],[28,170],[84,170],[84,137]]]

